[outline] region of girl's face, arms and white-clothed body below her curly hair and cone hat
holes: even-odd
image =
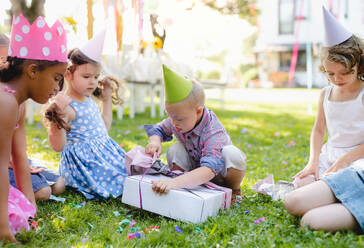
[[[321,91],[310,159],[293,177],[296,188],[349,166],[364,169],[364,83],[358,65],[350,71],[342,63],[324,60],[323,69],[331,85]],[[328,140],[322,145],[326,129]]]

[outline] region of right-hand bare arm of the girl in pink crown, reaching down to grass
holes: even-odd
[[[18,125],[18,128],[14,131],[12,140],[12,162],[15,172],[15,182],[18,189],[36,206],[26,152],[25,104],[20,105]]]

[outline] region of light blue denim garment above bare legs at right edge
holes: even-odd
[[[364,170],[348,167],[321,179],[330,186],[336,198],[364,231]]]

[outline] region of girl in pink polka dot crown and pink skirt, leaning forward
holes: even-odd
[[[43,104],[56,95],[67,68],[66,32],[57,21],[49,27],[43,17],[30,24],[14,17],[7,58],[0,61],[0,239],[16,242],[15,234],[29,230],[36,205],[30,168],[23,163],[26,144],[19,127],[19,106],[28,98]],[[9,186],[13,159],[16,184]]]

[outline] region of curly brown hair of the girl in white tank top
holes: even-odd
[[[321,49],[321,72],[326,72],[323,62],[328,60],[342,64],[347,72],[354,72],[354,67],[358,65],[358,79],[364,81],[364,41],[359,37],[352,35],[346,41]]]

